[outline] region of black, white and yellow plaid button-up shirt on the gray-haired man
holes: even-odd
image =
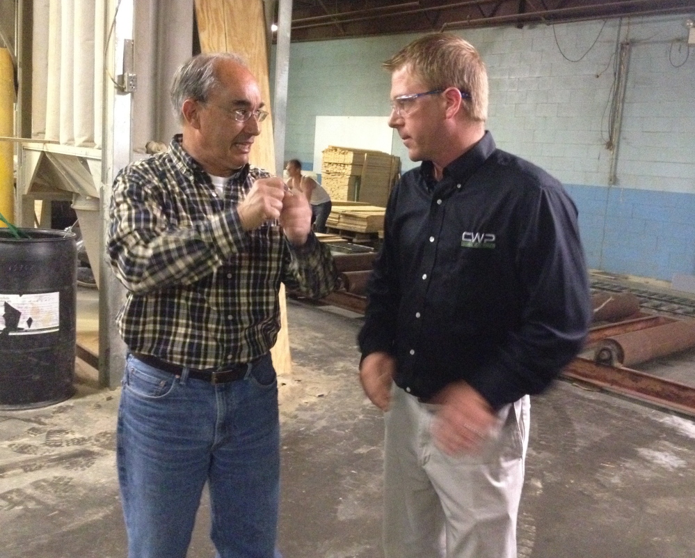
[[[195,369],[248,362],[277,339],[281,282],[310,297],[334,290],[313,233],[292,247],[280,226],[241,228],[237,203],[267,176],[247,164],[220,196],[180,136],[118,173],[106,249],[128,290],[117,321],[131,351]]]

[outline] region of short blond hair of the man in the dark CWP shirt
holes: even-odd
[[[393,73],[408,68],[432,89],[456,87],[464,95],[468,116],[479,122],[488,118],[488,72],[479,52],[453,33],[424,35],[383,63]]]

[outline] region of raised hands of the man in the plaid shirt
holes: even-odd
[[[301,246],[311,231],[311,206],[301,192],[287,189],[281,178],[259,178],[237,206],[241,226],[252,231],[264,222],[278,219],[287,240]]]

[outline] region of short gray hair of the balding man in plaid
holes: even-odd
[[[248,68],[246,61],[234,52],[211,52],[198,54],[186,61],[174,75],[171,84],[171,108],[174,116],[183,123],[184,115],[181,108],[186,99],[207,102],[211,91],[219,85],[217,65],[220,61],[230,60]]]

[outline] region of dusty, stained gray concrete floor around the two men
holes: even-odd
[[[285,558],[381,558],[383,424],[356,378],[361,318],[288,301]],[[683,355],[681,371],[694,355]],[[673,362],[671,362],[673,364]],[[694,373],[695,374],[695,373]],[[0,556],[121,558],[119,391],[0,412]],[[520,558],[695,556],[695,421],[558,381],[533,399]],[[211,558],[207,497],[189,558]]]

